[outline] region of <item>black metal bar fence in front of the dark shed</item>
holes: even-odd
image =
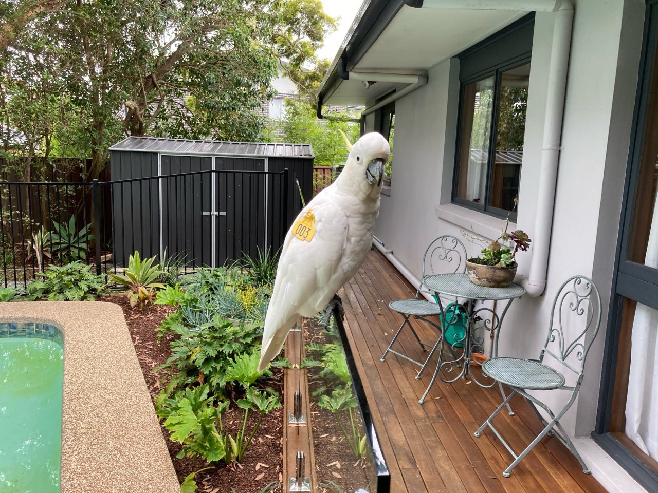
[[[0,279],[26,287],[49,264],[99,274],[142,258],[186,269],[277,252],[299,195],[282,171],[215,170],[91,183],[0,182]]]

